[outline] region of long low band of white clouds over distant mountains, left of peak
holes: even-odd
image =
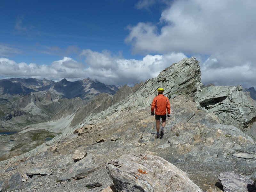
[[[90,77],[105,84],[133,85],[156,77],[164,68],[186,57],[183,53],[173,52],[146,55],[142,60],[126,60],[108,51],[93,52],[90,49],[83,50],[80,55],[84,58],[83,63],[64,57],[51,65],[16,63],[0,58],[0,78],[46,78],[55,81],[67,78],[76,81]]]

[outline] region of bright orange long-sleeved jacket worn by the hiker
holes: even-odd
[[[157,95],[151,104],[151,112],[153,112],[155,109],[156,115],[165,115],[166,109],[167,114],[170,114],[170,101],[167,97],[165,97],[163,94]]]

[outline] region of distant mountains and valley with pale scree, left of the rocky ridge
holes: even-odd
[[[62,79],[56,83],[46,79],[0,80],[0,159],[35,148],[85,117],[123,100],[139,87],[140,84],[124,85],[118,89],[90,78],[75,82]],[[37,138],[36,144],[33,138]],[[9,140],[13,142],[10,144]]]

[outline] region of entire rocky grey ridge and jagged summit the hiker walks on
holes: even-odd
[[[158,87],[171,103],[162,139],[150,114]],[[248,135],[255,109],[241,89],[203,88],[199,62],[185,58],[106,110],[80,116],[67,132],[0,162],[0,191],[256,191],[256,142]]]

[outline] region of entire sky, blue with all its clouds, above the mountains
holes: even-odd
[[[0,79],[139,83],[184,57],[203,84],[256,85],[254,0],[3,1]]]

